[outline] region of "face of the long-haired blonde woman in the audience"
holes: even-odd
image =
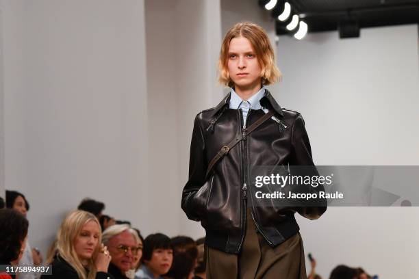
[[[99,245],[99,236],[101,234],[97,222],[90,220],[81,228],[74,243],[74,249],[81,262],[86,262],[92,258],[94,250]]]

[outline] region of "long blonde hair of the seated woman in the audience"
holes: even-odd
[[[81,263],[79,256],[77,256],[74,245],[77,236],[79,236],[81,232],[81,229],[90,221],[97,223],[100,234],[98,245],[93,251],[93,256],[88,260],[88,265],[86,268],[89,270],[89,272],[87,273],[84,265]],[[101,226],[97,218],[92,213],[77,210],[69,213],[65,217],[57,233],[57,243],[55,248],[58,252],[58,255],[64,258],[64,261],[66,261],[71,265],[71,267],[75,269],[79,278],[92,279],[96,277],[97,269],[96,265],[94,264],[94,259],[97,258],[100,247]]]

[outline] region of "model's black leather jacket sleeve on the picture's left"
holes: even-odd
[[[183,211],[185,211],[190,220],[194,221],[201,220],[199,215],[194,211],[193,198],[205,183],[207,164],[205,163],[204,150],[205,142],[198,114],[194,121],[192,140],[190,142],[189,178],[185,187],[183,187],[181,201]]]

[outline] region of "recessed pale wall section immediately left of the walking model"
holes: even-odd
[[[154,192],[153,200],[161,203],[153,216],[166,220],[152,225],[150,233],[203,237],[201,225],[181,211],[181,190],[188,180],[194,117],[222,98],[216,85],[220,5],[214,0],[147,0],[145,4],[150,186],[160,189]]]

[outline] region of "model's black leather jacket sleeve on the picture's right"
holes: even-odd
[[[305,130],[304,119],[298,114],[292,124],[292,157],[290,160],[290,168],[294,168],[294,174],[297,175],[316,175],[318,171],[313,163],[312,148],[310,147],[309,137]],[[319,191],[325,191],[323,185],[312,187],[311,185],[303,185],[305,193],[317,194]],[[316,198],[309,200],[307,206],[296,207],[296,211],[310,220],[318,219],[327,209],[327,200],[325,198]]]

